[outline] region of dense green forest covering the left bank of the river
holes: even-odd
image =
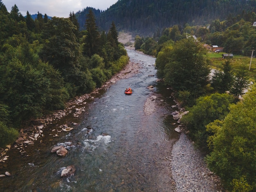
[[[90,93],[127,63],[115,23],[99,31],[90,11],[79,30],[76,16],[38,13],[33,20],[0,0],[0,147],[15,141],[20,126]]]

